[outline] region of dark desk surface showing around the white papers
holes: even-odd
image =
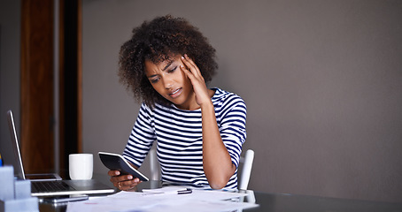
[[[161,186],[158,181],[143,182],[138,186],[138,190],[144,188],[156,188]],[[389,203],[377,201],[356,201],[326,197],[316,197],[307,195],[293,195],[282,193],[261,193],[251,192],[258,208],[244,209],[243,211],[364,211],[364,212],[383,212],[400,211],[402,203]],[[252,200],[244,198],[245,201]],[[66,211],[66,204],[52,205],[50,203],[40,203],[40,211]]]

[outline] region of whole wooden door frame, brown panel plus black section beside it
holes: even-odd
[[[59,127],[60,169],[68,170],[66,158],[69,154],[82,152],[81,0],[59,0],[59,3],[59,116],[55,118],[54,0],[21,1],[20,146],[27,173],[55,170],[55,120],[58,120]],[[75,22],[67,23],[71,18]],[[72,29],[75,29],[74,34],[67,34]],[[66,47],[71,46],[73,51],[71,48],[66,51]],[[75,62],[71,64],[71,61]],[[66,64],[70,66],[66,67]],[[73,76],[66,77],[71,72]],[[70,113],[72,108],[73,114]]]

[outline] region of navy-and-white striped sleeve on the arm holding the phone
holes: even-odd
[[[128,144],[123,152],[124,158],[138,168],[143,164],[143,160],[151,149],[153,141],[157,139],[155,130],[152,127],[152,116],[151,109],[143,103],[128,138]]]

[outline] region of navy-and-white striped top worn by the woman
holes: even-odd
[[[238,95],[220,88],[213,90],[220,136],[236,165],[236,172],[225,188],[237,188],[237,167],[246,139],[246,105]],[[123,156],[140,167],[154,140],[158,140],[157,155],[163,181],[208,186],[203,170],[200,109],[180,110],[174,105],[160,104],[151,109],[143,103]]]

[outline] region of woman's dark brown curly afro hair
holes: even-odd
[[[164,97],[153,89],[145,76],[145,61],[154,64],[187,54],[198,66],[205,82],[213,78],[218,68],[215,49],[186,19],[170,15],[144,21],[133,29],[133,36],[120,49],[120,82],[134,93],[138,102],[154,107],[155,103],[170,105]]]

